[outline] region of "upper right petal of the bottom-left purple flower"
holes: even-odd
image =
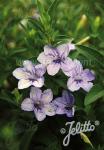
[[[43,92],[42,94],[42,101],[44,104],[47,104],[49,102],[51,102],[53,99],[53,93],[52,93],[52,90],[51,89],[47,89]]]

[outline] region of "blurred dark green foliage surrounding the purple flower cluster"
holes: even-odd
[[[92,57],[84,65],[96,72],[95,84],[104,85],[103,0],[40,0],[38,4],[36,0],[0,0],[0,150],[92,149],[80,136],[73,137],[67,148],[62,146],[63,136],[58,130],[68,121],[65,116],[39,123],[33,113],[21,111],[20,104],[28,90],[18,91],[12,76],[23,60],[37,62],[45,44],[56,45],[68,40],[97,50],[99,56],[93,55],[91,49],[86,53],[86,49],[84,56],[75,52],[71,57],[88,60],[92,51]],[[46,87],[59,95],[66,79],[60,77],[56,81],[47,75],[46,78]],[[96,150],[104,150],[104,88],[101,90],[101,97],[86,107],[83,106],[85,93],[75,93],[78,99],[75,120],[101,122],[94,133],[88,133]]]

